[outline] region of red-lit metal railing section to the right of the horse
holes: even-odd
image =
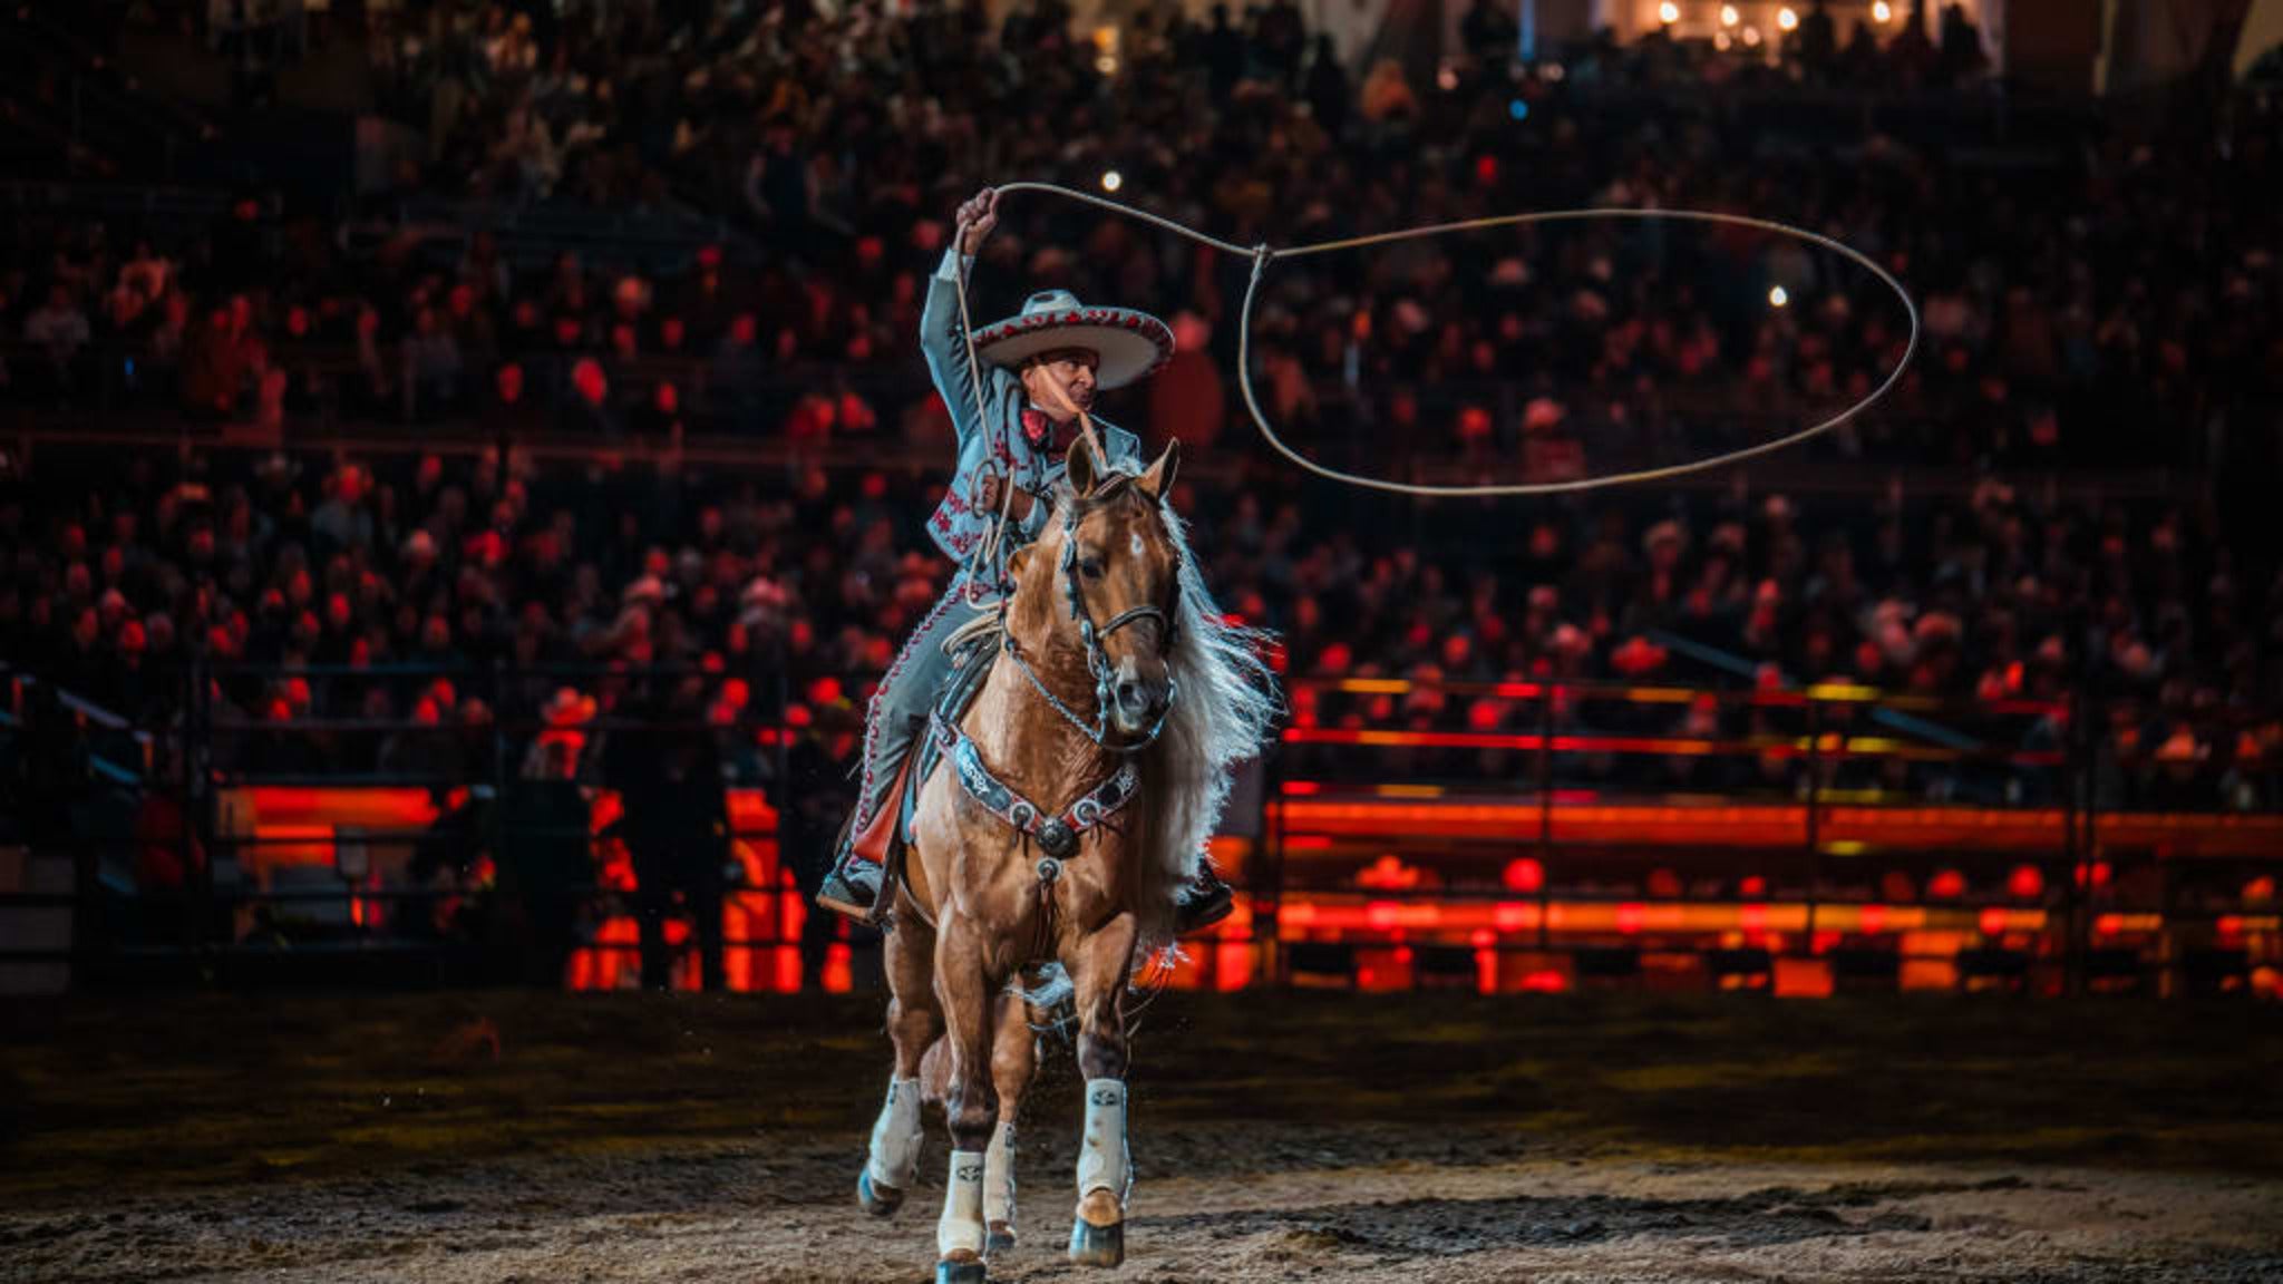
[[[1694,955],[1790,992],[2272,987],[2283,962],[2276,715],[1402,679],[1294,706],[1249,870],[1281,980],[1450,948],[1484,989],[1516,957],[1525,985]]]

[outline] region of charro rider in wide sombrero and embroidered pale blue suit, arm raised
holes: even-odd
[[[1032,295],[1023,311],[975,331],[982,363],[982,420],[975,411],[966,343],[959,334],[959,274],[998,224],[998,192],[984,187],[959,208],[961,242],[943,251],[943,265],[927,281],[920,313],[920,350],[927,372],[943,393],[959,432],[959,471],[943,503],[927,521],[927,535],[961,567],[943,601],[904,642],[888,667],[865,717],[863,779],[856,816],[817,891],[817,905],[852,918],[870,918],[881,889],[881,852],[893,813],[893,793],[906,754],[918,743],[950,676],[943,642],[979,615],[995,610],[995,589],[1007,553],[1036,537],[1052,509],[1062,455],[1080,434],[1078,411],[1087,411],[1110,468],[1142,473],[1142,443],[1123,427],[1094,416],[1094,395],[1153,375],[1173,354],[1173,331],[1153,315],[1128,308],[1089,308],[1068,290]],[[1014,496],[1000,487],[1014,484]],[[1011,528],[993,551],[993,564],[973,567],[1002,503]],[[1210,864],[1180,889],[1178,930],[1187,932],[1224,918],[1228,886]]]

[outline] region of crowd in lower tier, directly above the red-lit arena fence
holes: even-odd
[[[11,484],[0,642],[14,665],[155,724],[180,713],[180,660],[203,653],[217,667],[208,713],[240,724],[219,743],[235,770],[454,779],[489,763],[493,717],[523,743],[550,717],[594,717],[600,697],[605,715],[710,722],[733,768],[765,775],[788,720],[856,727],[947,573],[913,537],[941,482],[890,471],[772,484],[516,457],[502,471],[489,455],[329,473],[283,455],[217,459],[119,473],[82,457]],[[2235,717],[2283,706],[2283,583],[2246,573],[2194,507],[2059,503],[1998,482],[1961,503],[1735,489],[1441,512],[1388,546],[1260,480],[1183,482],[1176,503],[1224,608],[1281,633],[1294,688],[1422,681],[1402,697],[1294,690],[1297,727],[1539,727],[1532,699],[1443,695],[1438,681],[1836,681],[1959,706],[2064,701],[2089,683],[2128,711],[2103,729],[2125,754],[2242,763],[2272,788],[2283,752],[2274,717]],[[646,669],[664,676],[646,685]],[[1564,704],[1557,717],[1728,738],[1772,727],[1710,704]],[[324,720],[368,729],[253,733]],[[466,736],[393,727],[404,720]],[[2014,736],[2059,747],[2066,720],[2039,713]],[[1468,754],[1409,765],[1498,770]],[[1899,772],[1890,784],[1915,788]]]

